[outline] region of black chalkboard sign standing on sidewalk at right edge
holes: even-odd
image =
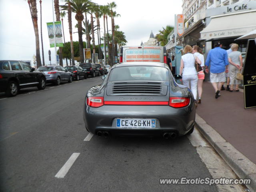
[[[244,108],[256,107],[256,41],[248,40],[244,62]]]

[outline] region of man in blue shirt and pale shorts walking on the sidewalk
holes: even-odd
[[[228,54],[226,50],[222,49],[222,43],[217,42],[214,44],[214,49],[210,50],[206,62],[205,71],[209,72],[208,66],[210,67],[210,80],[215,90],[215,98],[220,96],[220,89],[222,82],[226,80],[225,72],[228,72]]]

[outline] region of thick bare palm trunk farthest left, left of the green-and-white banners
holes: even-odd
[[[41,58],[40,58],[40,44],[39,44],[39,32],[38,32],[38,17],[37,17],[37,8],[36,8],[36,0],[28,0],[28,6],[34,26],[34,32],[36,36],[36,68],[42,66]]]

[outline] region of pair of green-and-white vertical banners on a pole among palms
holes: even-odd
[[[55,23],[56,47],[63,47],[61,21],[56,21],[54,23]],[[47,24],[48,36],[50,40],[50,47],[54,47],[53,22],[48,22],[46,24]]]

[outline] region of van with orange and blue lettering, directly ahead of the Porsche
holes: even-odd
[[[166,63],[166,47],[164,46],[125,46],[121,48],[122,62],[161,62]]]

